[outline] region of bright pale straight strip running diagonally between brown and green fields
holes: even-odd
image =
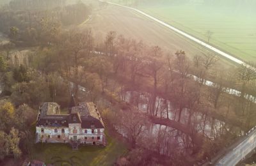
[[[180,31],[179,29],[177,29],[177,28],[175,28],[175,27],[173,27],[173,26],[170,26],[169,24],[166,24],[165,22],[163,22],[163,21],[161,21],[161,20],[159,20],[159,19],[156,19],[155,17],[152,17],[151,15],[148,15],[147,13],[144,13],[143,11],[140,11],[140,10],[138,10],[138,9],[136,9],[136,8],[131,8],[131,7],[129,7],[129,6],[124,6],[124,5],[116,4],[116,3],[111,3],[111,2],[108,2],[108,1],[106,1],[106,3],[113,4],[113,5],[115,5],[115,6],[120,6],[120,7],[123,7],[123,8],[127,8],[127,9],[129,9],[129,10],[136,11],[136,12],[140,13],[141,15],[144,15],[145,17],[148,17],[149,19],[154,20],[155,22],[157,22],[157,23],[159,23],[159,24],[161,24],[161,25],[163,25],[163,26],[165,26],[165,27],[168,27],[169,29],[172,29],[172,30],[175,31],[176,33],[179,33],[179,34],[181,34],[182,36],[185,36],[186,38],[188,38],[188,39],[190,39],[190,40],[192,40],[192,41],[195,41],[196,43],[198,43],[198,44],[200,44],[200,45],[206,47],[207,49],[210,49],[210,50],[212,50],[212,51],[214,51],[214,52],[220,54],[220,55],[223,56],[223,57],[226,57],[227,59],[229,59],[229,60],[231,60],[231,61],[233,61],[233,62],[235,62],[235,63],[237,63],[237,64],[243,64],[243,65],[246,66],[247,68],[250,68],[250,69],[252,69],[252,70],[254,70],[254,71],[256,72],[256,69],[255,69],[255,68],[253,68],[253,67],[250,66],[249,64],[244,63],[244,62],[241,61],[240,59],[237,59],[236,57],[230,56],[229,54],[227,54],[227,53],[225,53],[225,52],[223,52],[223,51],[221,51],[221,50],[219,50],[219,49],[216,49],[215,47],[212,47],[211,45],[205,43],[204,41],[198,40],[197,38],[195,38],[195,37],[193,37],[193,36],[191,36],[191,35],[189,35],[189,34],[183,32],[183,31]]]

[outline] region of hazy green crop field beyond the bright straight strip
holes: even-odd
[[[118,2],[118,1],[114,1]],[[136,8],[210,43],[243,61],[256,62],[256,10],[205,6],[200,3],[139,5]]]

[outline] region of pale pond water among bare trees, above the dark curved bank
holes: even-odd
[[[139,110],[149,113],[151,102],[150,94],[138,93],[136,91],[126,91],[123,94],[122,98],[125,102],[136,105]],[[165,117],[173,121],[177,121],[177,114],[179,114],[179,112],[177,112],[177,109],[175,109],[172,102],[170,102],[169,100],[165,100],[164,98],[157,96],[155,110],[157,117]],[[180,123],[188,124],[188,119],[189,110],[184,108],[181,114]],[[191,125],[193,125],[198,132],[204,133],[206,137],[209,137],[211,139],[214,139],[221,134],[224,134],[226,131],[230,131],[231,128],[234,129],[234,127],[226,124],[223,121],[214,119],[210,116],[205,116],[205,114],[203,114],[202,112],[193,112],[193,115],[191,116],[191,122]],[[237,134],[239,133],[241,132],[238,130]]]

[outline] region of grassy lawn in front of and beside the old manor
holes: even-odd
[[[83,146],[72,150],[68,144],[35,144],[32,159],[54,165],[113,165],[118,156],[127,153],[124,143],[106,134],[108,145]]]

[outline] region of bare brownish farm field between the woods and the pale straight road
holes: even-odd
[[[174,54],[177,50],[184,50],[186,55],[191,58],[196,55],[215,54],[135,11],[111,4],[102,10],[94,11],[92,19],[80,26],[80,28],[92,29],[93,36],[99,39],[98,41],[103,41],[104,36],[109,31],[116,31],[118,35],[122,34],[126,38],[142,40],[148,45],[158,45],[173,56],[175,56]],[[230,64],[234,64],[225,59],[222,59],[222,62],[222,64],[225,64],[221,65],[223,67],[229,67]]]

